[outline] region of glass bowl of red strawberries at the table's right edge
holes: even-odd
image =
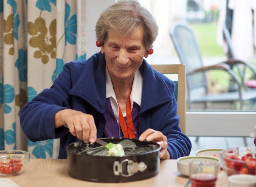
[[[256,171],[256,147],[231,148],[221,152],[223,170],[229,175],[250,174]]]

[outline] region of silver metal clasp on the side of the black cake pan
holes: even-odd
[[[127,173],[123,174],[123,164],[127,162]],[[138,171],[143,172],[147,169],[147,165],[144,162],[134,162],[129,159],[125,159],[119,163],[119,161],[115,161],[113,165],[113,171],[115,175],[122,175],[125,177],[129,177],[133,175],[134,173],[137,173]]]

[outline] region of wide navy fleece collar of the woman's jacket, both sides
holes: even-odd
[[[88,102],[99,113],[105,113],[106,102],[106,74],[105,55],[96,53],[91,56],[84,65],[84,69],[70,93]],[[163,78],[144,59],[139,70],[143,77],[141,95],[141,110],[145,112],[162,103],[171,101],[171,91]],[[152,84],[155,82],[155,84]]]

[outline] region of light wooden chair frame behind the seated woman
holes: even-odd
[[[177,94],[175,94],[178,104],[177,114],[180,116],[180,127],[183,133],[186,132],[186,73],[184,64],[151,65],[156,71],[162,74],[178,74]],[[175,82],[175,81],[174,81]]]

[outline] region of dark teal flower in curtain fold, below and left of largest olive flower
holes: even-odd
[[[19,57],[15,62],[15,67],[19,71],[19,80],[27,82],[27,50],[19,49]]]

